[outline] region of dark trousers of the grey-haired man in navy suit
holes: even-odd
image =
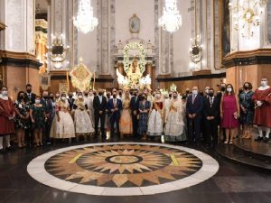
[[[201,116],[188,119],[189,143],[201,141]]]

